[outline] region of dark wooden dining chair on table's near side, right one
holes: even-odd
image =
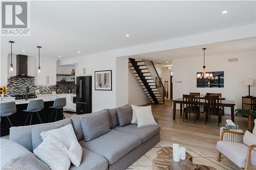
[[[220,106],[220,98],[216,95],[206,95],[205,96],[205,125],[208,121],[208,116],[214,115],[218,116],[218,126],[221,123],[221,106]]]

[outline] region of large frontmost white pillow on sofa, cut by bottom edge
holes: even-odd
[[[70,160],[65,147],[55,136],[48,135],[33,153],[37,158],[45,162],[51,170],[69,169]]]

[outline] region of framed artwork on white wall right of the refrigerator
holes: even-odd
[[[94,71],[95,90],[112,90],[112,70]]]

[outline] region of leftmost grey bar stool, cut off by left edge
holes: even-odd
[[[12,123],[10,121],[9,116],[14,113],[16,113],[15,102],[0,103],[0,123],[1,123],[2,117],[5,117],[7,127],[9,127],[8,122],[10,124],[10,127],[12,127]]]

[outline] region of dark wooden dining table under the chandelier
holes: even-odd
[[[176,118],[176,104],[180,104],[180,115],[182,115],[182,106],[183,106],[183,98],[173,100],[173,119]],[[205,106],[205,99],[200,99],[199,101],[200,106]],[[220,103],[221,107],[230,107],[231,110],[231,120],[234,123],[234,106],[236,105],[235,101],[230,100],[222,100]]]

